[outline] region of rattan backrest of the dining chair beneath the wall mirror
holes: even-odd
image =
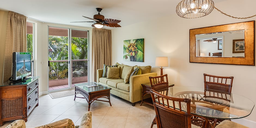
[[[203,74],[205,89],[214,89],[231,93],[234,77],[221,77]]]

